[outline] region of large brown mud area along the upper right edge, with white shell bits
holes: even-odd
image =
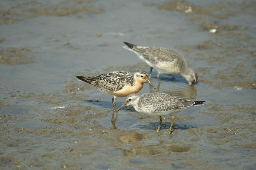
[[[204,67],[204,70],[208,70],[206,74],[199,75],[199,81],[217,88],[238,86],[256,89],[256,69],[253,65],[256,62],[254,43],[256,37],[251,34],[253,30],[236,24],[219,24],[219,21],[238,13],[256,15],[252,1],[195,6],[191,2],[181,0],[145,5],[157,6],[159,10],[184,13],[188,20],[198,23],[199,30],[212,32],[211,39],[201,44],[178,46],[179,49],[187,52],[186,58],[194,55],[197,60],[204,60],[210,65]],[[241,65],[245,60],[246,65]],[[218,69],[215,75],[214,72],[209,72],[212,68]]]

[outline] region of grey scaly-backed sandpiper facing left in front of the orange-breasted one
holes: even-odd
[[[172,125],[174,123],[174,117],[171,113],[178,112],[183,108],[187,108],[193,105],[204,105],[205,101],[191,101],[182,99],[171,94],[166,93],[144,93],[141,96],[138,94],[129,94],[126,97],[124,104],[117,111],[121,110],[125,106],[131,105],[139,113],[148,115],[159,115],[160,121],[156,130],[159,133],[159,129],[162,124],[161,115],[171,116],[171,126],[169,128],[169,134],[172,133]]]

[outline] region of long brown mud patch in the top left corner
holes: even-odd
[[[8,0],[5,0],[8,1]],[[41,3],[40,1],[17,1],[15,3],[4,3],[3,8],[0,7],[0,25],[14,24],[29,18],[46,16],[67,16],[67,15],[86,15],[101,14],[104,9],[95,7],[95,1],[90,0],[73,0],[61,1],[60,3]]]

